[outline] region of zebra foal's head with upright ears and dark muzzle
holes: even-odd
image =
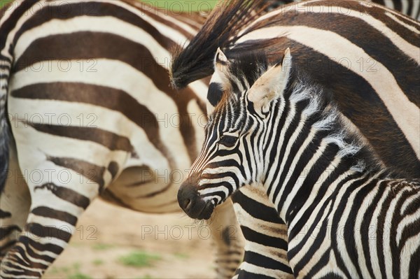
[[[178,192],[179,205],[193,218],[209,219],[214,207],[243,185],[260,185],[265,176],[265,145],[273,127],[273,108],[283,101],[291,69],[290,50],[269,68],[263,53],[230,61],[219,49],[210,88],[221,92],[209,106],[202,152]],[[210,92],[209,92],[210,94]]]

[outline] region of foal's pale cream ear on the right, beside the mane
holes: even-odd
[[[291,67],[292,57],[288,48],[284,52],[283,62],[272,66],[255,81],[248,92],[248,100],[253,102],[256,111],[261,110],[270,101],[277,99],[283,94],[290,76]]]

